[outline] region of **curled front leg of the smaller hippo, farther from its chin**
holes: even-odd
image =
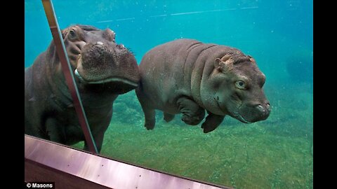
[[[198,125],[205,117],[205,110],[187,97],[180,97],[177,101],[180,113],[183,113],[183,122],[188,125]]]

